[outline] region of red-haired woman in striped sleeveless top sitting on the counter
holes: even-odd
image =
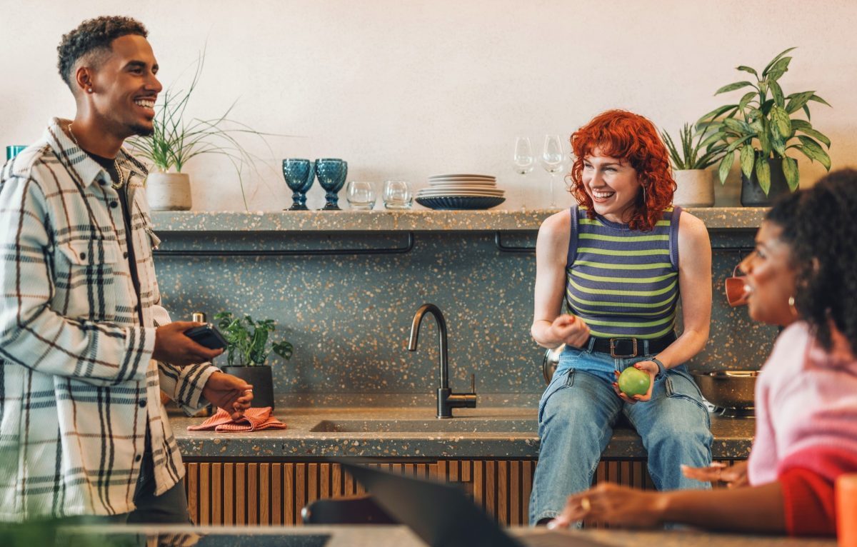
[[[643,438],[658,490],[710,488],[680,469],[711,460],[708,412],[683,364],[708,339],[708,232],[671,207],[668,153],[648,119],[603,112],[572,135],[572,150],[578,205],[545,219],[536,243],[530,332],[541,346],[566,346],[539,402],[534,525],[590,487],[620,416]],[[631,366],[650,376],[647,393],[620,392]]]

